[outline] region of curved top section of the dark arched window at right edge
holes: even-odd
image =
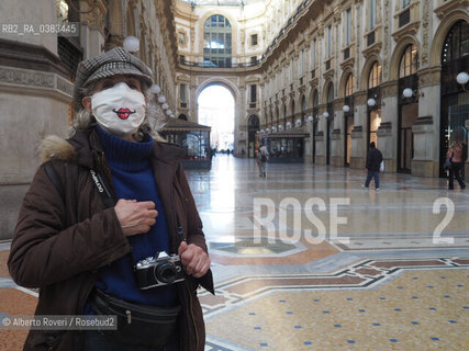
[[[443,45],[442,63],[469,56],[469,23],[466,21],[456,22],[446,36]]]

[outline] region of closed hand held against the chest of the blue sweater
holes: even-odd
[[[121,199],[114,210],[125,236],[147,233],[156,223],[155,218],[158,215],[153,201],[137,202]]]

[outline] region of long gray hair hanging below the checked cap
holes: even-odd
[[[146,82],[144,82],[143,80],[139,81],[142,86],[142,93],[145,95],[147,104],[145,111],[145,118],[138,127],[138,131],[134,134],[134,138],[137,141],[142,141],[144,139],[144,135],[149,134],[155,140],[165,141],[165,139],[159,135],[159,132],[166,125],[168,118],[165,116],[165,113],[159,106],[157,95],[149,91],[149,86]],[[98,82],[99,80],[91,82],[86,88],[80,88],[80,95],[91,97],[96,91]],[[87,111],[80,103],[80,105],[74,113],[72,124],[68,134],[70,137],[72,137],[77,132],[86,131],[96,123],[97,122],[92,113]]]

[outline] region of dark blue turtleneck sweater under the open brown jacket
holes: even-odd
[[[150,167],[154,140],[147,136],[143,143],[127,141],[97,127],[105,159],[112,172],[116,199],[153,201],[158,211],[156,224],[148,233],[127,237],[132,254],[99,270],[97,287],[108,294],[145,305],[171,307],[177,304],[174,285],[138,290],[133,265],[136,261],[155,256],[157,251],[169,253],[169,235],[165,210],[158,195]]]

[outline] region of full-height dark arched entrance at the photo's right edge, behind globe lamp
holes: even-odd
[[[468,144],[469,89],[456,81],[458,73],[469,71],[468,43],[469,23],[460,20],[449,30],[442,48],[439,177],[446,177],[443,165],[450,144]]]

